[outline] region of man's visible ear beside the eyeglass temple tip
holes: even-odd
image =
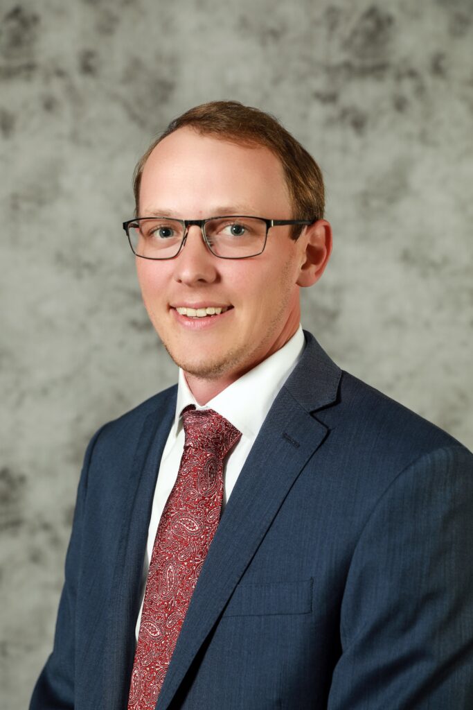
[[[332,227],[326,219],[309,224],[299,236],[301,244],[301,271],[296,283],[312,286],[323,274],[332,253]],[[304,246],[302,246],[304,245]]]

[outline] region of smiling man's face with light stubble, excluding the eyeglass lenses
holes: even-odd
[[[139,216],[204,219],[246,214],[291,219],[279,160],[264,147],[247,148],[184,128],[148,158]],[[143,300],[172,359],[192,378],[225,386],[279,349],[299,324],[297,280],[304,239],[288,226],[269,231],[265,251],[241,260],[208,250],[198,226],[167,261],[136,259]],[[189,317],[177,308],[218,307],[221,315]],[[190,383],[190,382],[189,382]]]

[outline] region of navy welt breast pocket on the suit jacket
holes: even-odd
[[[223,616],[306,614],[312,611],[312,579],[272,584],[239,584]]]

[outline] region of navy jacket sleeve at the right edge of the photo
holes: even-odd
[[[350,564],[328,710],[473,708],[473,456],[425,454],[377,503]]]

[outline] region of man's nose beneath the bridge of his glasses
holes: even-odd
[[[212,283],[216,280],[217,262],[204,241],[201,228],[196,224],[189,226],[184,246],[175,259],[174,278],[179,283]]]

